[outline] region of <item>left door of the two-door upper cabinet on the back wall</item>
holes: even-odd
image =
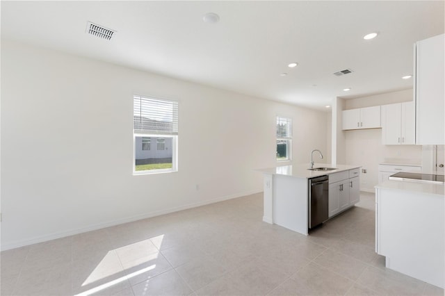
[[[382,144],[401,144],[402,104],[383,105],[382,109]]]

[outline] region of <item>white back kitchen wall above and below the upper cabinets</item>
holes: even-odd
[[[412,90],[388,92],[371,97],[348,99],[344,101],[344,109],[362,108],[403,101],[412,101]],[[360,175],[361,190],[373,192],[378,184],[378,164],[422,162],[422,147],[416,145],[382,145],[382,129],[364,129],[343,131],[346,164],[362,165],[366,174]]]

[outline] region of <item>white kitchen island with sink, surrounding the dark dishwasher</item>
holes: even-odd
[[[314,167],[330,166],[320,163],[314,165]],[[263,221],[307,236],[309,233],[309,179],[316,176],[330,176],[330,213],[337,214],[353,206],[359,201],[357,197],[359,196],[359,166],[335,165],[333,167],[336,170],[326,172],[307,170],[308,164],[284,165],[258,170],[264,174]],[[354,190],[351,190],[351,198],[348,191],[349,184],[351,187],[355,186]],[[340,190],[341,195],[338,194]],[[336,206],[338,210],[332,211],[332,208]]]

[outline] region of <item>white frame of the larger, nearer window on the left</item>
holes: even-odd
[[[135,129],[135,117],[140,115],[142,117],[143,114],[136,113],[135,111],[135,100],[154,100],[154,101],[163,101],[164,103],[171,103],[172,104],[172,130],[171,131],[162,131],[162,130],[145,130],[145,129]],[[143,96],[139,94],[133,94],[133,175],[145,175],[145,174],[161,174],[161,173],[167,173],[167,172],[177,172],[178,171],[178,120],[179,120],[179,101],[174,99],[164,99],[160,97],[152,97],[152,96]],[[140,110],[142,112],[142,110]],[[155,111],[156,112],[156,111]],[[151,149],[151,143],[154,143],[154,139],[156,139],[156,148],[157,148],[157,139],[163,138],[164,139],[164,148],[165,148],[165,140],[167,138],[172,139],[172,147],[171,147],[171,154],[172,154],[172,167],[168,169],[154,169],[154,170],[139,170],[136,171],[136,138],[150,138],[150,150]],[[142,147],[140,147],[142,149]],[[165,150],[165,149],[164,149]],[[147,150],[144,150],[147,151]],[[154,149],[154,151],[157,151],[157,149]]]

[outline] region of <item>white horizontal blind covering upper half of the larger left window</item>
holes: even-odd
[[[178,102],[133,96],[134,133],[178,134]]]

